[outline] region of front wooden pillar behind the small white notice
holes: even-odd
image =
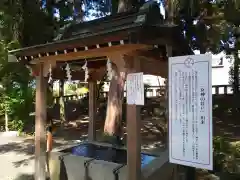
[[[131,73],[139,72],[140,62],[133,59]],[[128,180],[141,179],[141,120],[140,106],[127,105],[127,167]]]

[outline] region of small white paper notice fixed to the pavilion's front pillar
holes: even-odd
[[[143,73],[127,75],[127,104],[144,105]]]

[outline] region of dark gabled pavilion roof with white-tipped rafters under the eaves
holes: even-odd
[[[163,24],[158,5],[139,11],[107,16],[90,22],[72,24],[56,41],[10,51],[18,61],[72,61],[108,56],[108,51],[151,50],[172,45],[177,54],[187,54],[178,26]],[[162,48],[160,48],[162,49]]]

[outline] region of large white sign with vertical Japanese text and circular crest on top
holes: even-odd
[[[169,58],[169,161],[213,168],[212,57]]]

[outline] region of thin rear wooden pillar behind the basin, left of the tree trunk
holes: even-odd
[[[96,140],[96,102],[97,102],[97,83],[96,81],[89,82],[89,125],[88,125],[88,140]]]

